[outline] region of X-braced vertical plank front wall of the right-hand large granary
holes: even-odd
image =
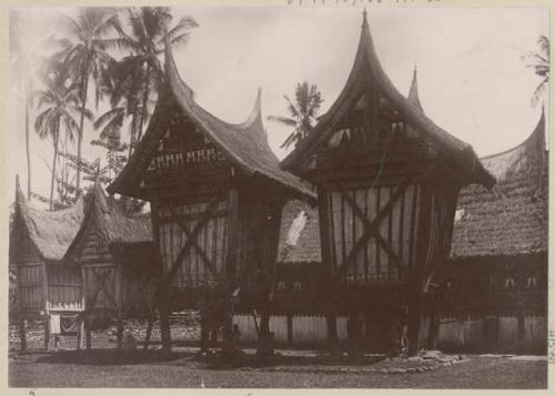
[[[400,190],[402,189],[402,191]],[[347,284],[396,283],[414,262],[418,185],[373,186],[325,193],[332,274]],[[366,225],[365,225],[366,223]],[[374,227],[372,232],[370,226]]]

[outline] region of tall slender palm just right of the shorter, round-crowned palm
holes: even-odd
[[[115,11],[108,8],[90,7],[79,10],[77,18],[63,16],[62,28],[65,28],[70,44],[64,51],[64,62],[69,65],[71,79],[79,89],[79,101],[81,114],[77,139],[77,176],[75,191],[80,195],[81,184],[81,146],[83,141],[83,122],[87,114],[87,99],[89,92],[89,80],[92,78],[95,84],[97,106],[101,99],[101,89],[98,83],[105,73],[111,57],[108,54],[110,40],[107,34],[112,29],[115,20]]]

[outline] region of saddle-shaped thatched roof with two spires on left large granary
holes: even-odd
[[[280,169],[280,162],[268,144],[261,114],[261,92],[259,90],[251,115],[243,123],[224,122],[201,108],[193,99],[191,88],[179,75],[171,45],[165,51],[165,75],[168,84],[161,94],[160,103],[164,108],[176,103],[178,108],[192,121],[210,141],[219,146],[235,166],[248,175],[261,175],[281,184],[294,195],[313,199],[313,192],[293,174]],[[158,141],[165,131],[153,125],[157,120],[157,106],[147,133],[125,169],[108,187],[110,194],[120,193],[138,196],[140,175],[152,160]]]

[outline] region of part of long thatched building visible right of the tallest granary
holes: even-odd
[[[442,276],[440,347],[545,354],[547,156],[542,114],[522,144],[481,160],[494,189],[462,190]]]

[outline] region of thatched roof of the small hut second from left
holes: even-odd
[[[115,243],[152,242],[150,214],[129,215],[113,197],[105,196],[99,183],[87,200],[84,220],[65,254],[69,257],[79,246],[90,225],[101,235],[107,245]]]

